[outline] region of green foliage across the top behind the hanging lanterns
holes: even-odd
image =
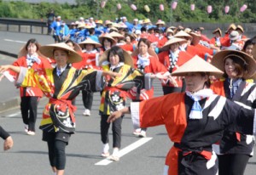
[[[37,3],[30,4],[23,1],[3,2],[0,0],[1,18],[19,19],[45,19],[50,9],[55,10],[55,15],[61,15],[64,20],[78,20],[80,16],[85,19],[94,17],[97,20],[115,20],[126,16],[128,20],[149,18],[152,21],[165,20],[166,22],[211,22],[211,23],[255,23],[255,0],[176,0],[177,8],[173,10],[171,4],[174,0],[108,0],[106,6],[101,8],[102,0],[76,0],[77,4],[67,3]],[[117,3],[122,8],[117,9]],[[137,10],[131,9],[131,4]],[[165,10],[160,11],[160,4]],[[195,11],[190,10],[190,4],[195,3]],[[150,12],[146,12],[144,5],[148,5]],[[247,9],[240,12],[243,4]],[[212,13],[207,14],[207,5],[212,5]],[[230,6],[230,12],[224,13],[224,7]]]

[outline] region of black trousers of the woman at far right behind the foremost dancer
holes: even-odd
[[[243,175],[250,155],[218,155],[218,175]]]

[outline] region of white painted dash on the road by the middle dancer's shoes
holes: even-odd
[[[128,154],[132,150],[137,149],[138,147],[142,146],[143,144],[146,144],[149,140],[152,138],[141,138],[137,140],[135,143],[130,144],[126,146],[124,149],[119,150],[119,157],[122,157],[123,155]],[[108,166],[108,164],[112,163],[113,161],[108,160],[108,158],[103,159],[102,161],[97,162],[96,166]]]

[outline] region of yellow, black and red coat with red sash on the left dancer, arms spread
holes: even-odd
[[[80,71],[67,65],[61,76],[55,69],[20,70],[17,83],[21,87],[38,86],[49,98],[45,105],[40,129],[46,132],[74,133],[74,106],[72,100],[80,90],[101,91],[105,85],[102,71]]]

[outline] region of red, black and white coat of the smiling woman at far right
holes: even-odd
[[[212,91],[219,95],[230,99],[245,108],[256,108],[256,84],[249,80],[242,80],[236,93],[230,97],[230,82],[228,79],[223,79],[218,82],[213,82],[211,85]],[[243,121],[241,121],[243,122]],[[239,137],[237,137],[239,135]],[[224,131],[223,138],[219,144],[215,146],[218,154],[244,154],[253,155],[253,135],[241,134],[234,132],[234,128],[230,127]]]

